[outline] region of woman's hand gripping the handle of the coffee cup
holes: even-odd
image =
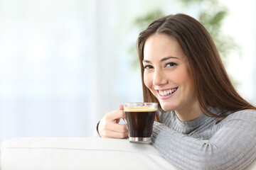
[[[98,132],[101,137],[108,138],[127,138],[128,130],[125,125],[119,125],[121,118],[125,118],[124,106],[120,105],[118,111],[107,113],[98,126]]]

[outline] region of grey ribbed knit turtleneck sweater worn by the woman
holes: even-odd
[[[163,123],[154,122],[152,145],[177,169],[245,169],[256,158],[256,111],[238,111],[223,120],[201,115],[188,122],[174,111],[159,114]]]

